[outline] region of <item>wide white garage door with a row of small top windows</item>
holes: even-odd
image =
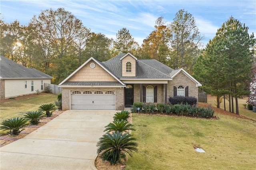
[[[71,91],[73,110],[115,110],[115,91]]]

